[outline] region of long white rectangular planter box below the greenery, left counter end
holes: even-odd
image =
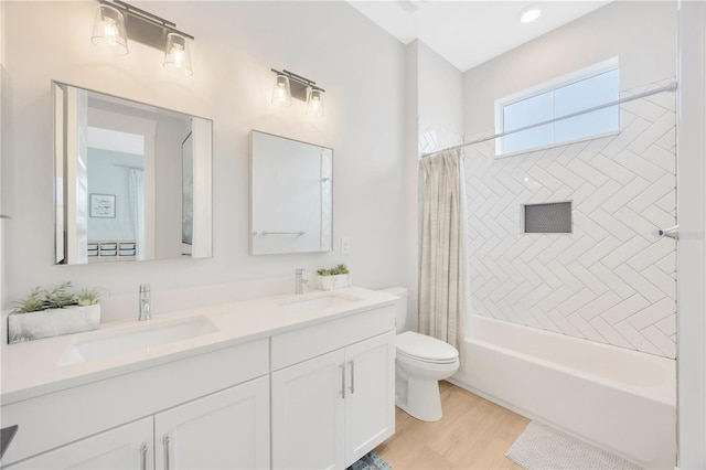
[[[67,307],[8,316],[8,343],[40,340],[96,330],[100,325],[100,305]]]

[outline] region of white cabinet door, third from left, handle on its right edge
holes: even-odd
[[[272,374],[272,468],[343,468],[343,350]]]

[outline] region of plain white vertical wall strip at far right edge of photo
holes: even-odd
[[[706,468],[706,4],[680,11],[677,389],[682,469]]]

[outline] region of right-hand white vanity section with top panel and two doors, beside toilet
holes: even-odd
[[[272,337],[271,354],[272,468],[343,469],[394,434],[392,308]]]

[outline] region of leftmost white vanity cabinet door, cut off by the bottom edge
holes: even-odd
[[[66,423],[71,426],[71,423]],[[152,417],[31,457],[9,469],[151,470]]]

